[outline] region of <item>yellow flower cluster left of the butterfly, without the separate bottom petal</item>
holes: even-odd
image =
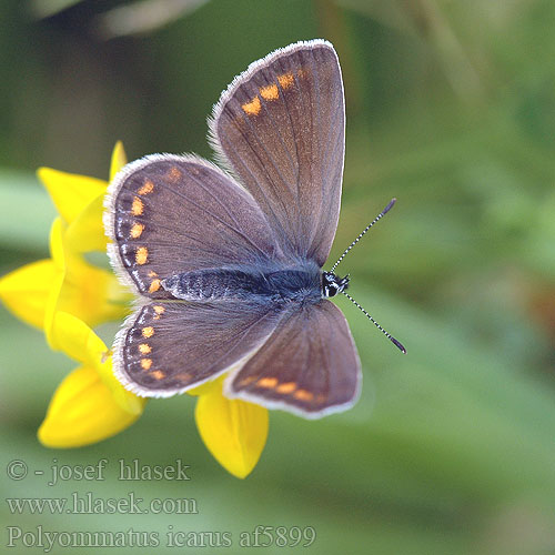
[[[124,163],[118,143],[111,176]],[[39,428],[44,445],[73,447],[131,425],[144,400],[115,380],[108,349],[90,327],[122,319],[130,300],[112,272],[83,256],[105,252],[102,200],[108,182],[46,168],[38,173],[60,213],[50,232],[51,258],[2,278],[0,297],[21,320],[42,327],[53,350],[81,363],[56,391]]]

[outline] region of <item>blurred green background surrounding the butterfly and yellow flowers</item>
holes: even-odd
[[[359,404],[316,422],[273,412],[262,458],[239,481],[204,448],[186,395],[151,402],[101,444],[42,447],[36,430],[74,364],[2,307],[4,495],[134,491],[199,504],[195,515],[85,516],[12,515],[2,502],[4,525],[160,534],[160,547],[122,554],[175,552],[163,546],[169,525],[233,534],[232,547],[185,553],[245,553],[239,533],[256,525],[313,526],[319,554],[555,553],[552,0],[4,0],[0,271],[48,255],[54,210],[37,167],[105,179],[118,139],[130,159],[211,157],[205,118],[221,90],[271,50],[316,37],[339,52],[347,110],[331,258],[398,199],[342,270],[408,354],[340,299],[363,363]],[[48,487],[4,473],[12,458],[32,474],[53,458],[102,457],[113,471],[105,482]],[[119,482],[120,457],[182,458],[192,480]]]

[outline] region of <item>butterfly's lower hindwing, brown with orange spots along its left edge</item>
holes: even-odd
[[[114,373],[138,395],[182,393],[251,355],[282,315],[275,306],[244,301],[145,304],[115,337]]]

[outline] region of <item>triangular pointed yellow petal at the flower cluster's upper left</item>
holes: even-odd
[[[37,174],[65,223],[71,223],[91,201],[105,192],[108,186],[105,181],[51,168],[40,168]]]

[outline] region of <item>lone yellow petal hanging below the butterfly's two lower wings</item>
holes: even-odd
[[[214,458],[238,478],[259,462],[268,437],[268,410],[222,394],[223,379],[199,397],[196,427]]]

